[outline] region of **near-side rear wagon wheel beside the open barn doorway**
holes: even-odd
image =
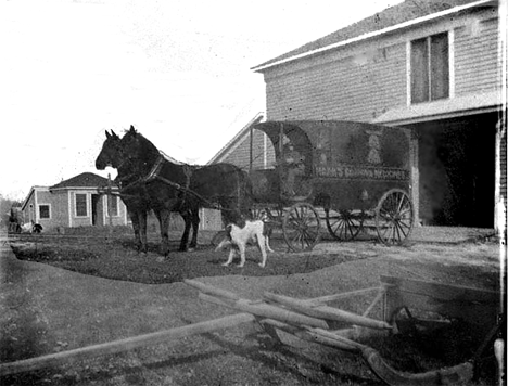
[[[401,189],[383,194],[376,208],[376,230],[386,244],[402,244],[412,231],[415,210],[409,195]]]

